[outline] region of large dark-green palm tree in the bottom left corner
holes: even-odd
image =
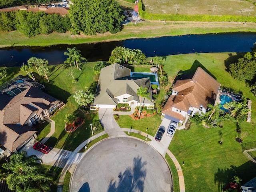
[[[26,156],[27,152],[22,151],[10,156],[10,162],[2,164],[2,167],[8,170],[6,183],[10,190],[17,192],[29,191],[49,191],[49,184],[52,183],[52,175],[45,173],[41,161],[35,155]]]

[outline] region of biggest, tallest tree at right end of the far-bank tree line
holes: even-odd
[[[69,18],[72,34],[83,32],[86,35],[111,32],[122,29],[124,20],[122,10],[116,1],[112,0],[73,0],[70,6]]]

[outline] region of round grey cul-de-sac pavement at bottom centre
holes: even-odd
[[[150,145],[130,137],[108,138],[90,148],[74,171],[71,192],[170,192],[166,161]]]

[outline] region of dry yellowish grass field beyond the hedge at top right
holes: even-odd
[[[180,15],[200,15],[212,14],[214,5],[214,15],[238,15],[248,16],[250,6],[254,5],[248,1],[240,0],[210,0],[186,1],[186,0],[161,0],[156,3],[154,0],[144,0],[145,11],[157,14],[175,14],[177,5]],[[210,10],[210,11],[209,11]],[[250,12],[250,16],[256,16],[255,12]]]

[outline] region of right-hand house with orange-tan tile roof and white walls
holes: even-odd
[[[162,114],[164,118],[182,123],[195,113],[205,113],[208,104],[214,104],[220,83],[198,67],[191,79],[177,80]]]

